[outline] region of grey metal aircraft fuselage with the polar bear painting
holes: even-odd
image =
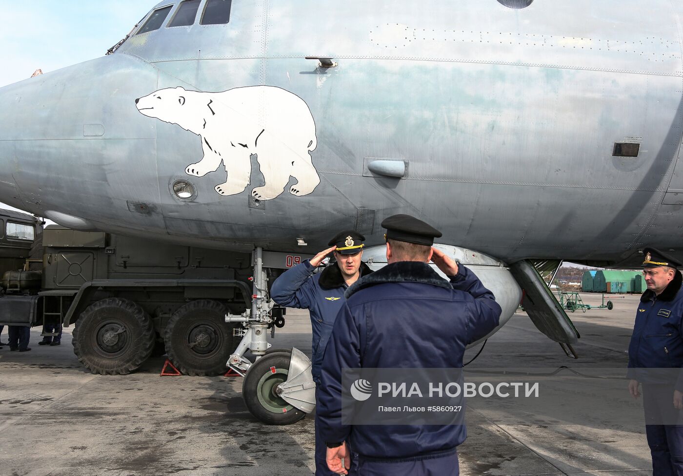
[[[683,3],[206,1],[1,88],[0,200],[236,250],[408,213],[507,263],[683,259]]]

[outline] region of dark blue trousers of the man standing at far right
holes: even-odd
[[[643,406],[652,476],[683,476],[683,421],[673,407],[673,385],[643,385]]]

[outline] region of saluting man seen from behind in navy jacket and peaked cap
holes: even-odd
[[[322,362],[317,411],[327,462],[339,474],[455,476],[464,425],[342,423],[342,369],[462,368],[466,345],[492,331],[501,314],[472,271],[432,248],[438,230],[410,215],[382,226],[389,264],[348,288]]]

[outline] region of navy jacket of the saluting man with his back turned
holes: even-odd
[[[322,362],[318,421],[324,441],[350,441],[365,458],[430,458],[466,438],[464,425],[348,426],[344,368],[462,368],[465,346],[499,322],[501,307],[477,276],[458,266],[450,282],[427,265],[391,263],[346,291]]]

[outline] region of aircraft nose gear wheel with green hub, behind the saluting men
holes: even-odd
[[[242,398],[251,415],[270,425],[289,425],[306,413],[285,402],[277,394],[277,385],[287,381],[290,351],[270,352],[249,368],[242,383]]]

